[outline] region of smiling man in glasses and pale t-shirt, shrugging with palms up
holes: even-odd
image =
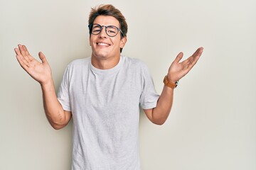
[[[41,84],[50,125],[63,128],[73,117],[74,170],[138,170],[139,106],[152,123],[162,125],[171,111],[177,81],[196,64],[203,48],[183,62],[183,54],[178,54],[159,96],[146,65],[121,55],[127,23],[117,8],[92,8],[89,30],[92,55],[68,65],[58,97],[42,52],[42,62],[37,62],[25,45],[18,45],[17,60]]]

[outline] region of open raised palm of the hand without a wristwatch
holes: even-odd
[[[50,65],[46,60],[46,56],[43,55],[43,52],[39,52],[39,58],[42,62],[38,62],[33,58],[26,48],[25,45],[18,45],[18,48],[15,48],[16,58],[21,64],[21,67],[36,81],[41,85],[46,85],[52,81],[52,74]]]

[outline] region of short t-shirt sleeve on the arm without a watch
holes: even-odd
[[[71,111],[70,107],[70,97],[69,97],[69,67],[65,69],[63,75],[63,80],[61,81],[60,87],[58,89],[58,101],[65,111]]]

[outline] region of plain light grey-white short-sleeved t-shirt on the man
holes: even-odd
[[[146,65],[121,56],[112,69],[91,58],[71,62],[58,100],[73,114],[73,170],[139,170],[139,106],[159,95]]]

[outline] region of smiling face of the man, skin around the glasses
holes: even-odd
[[[100,26],[116,26],[120,28],[119,21],[113,16],[97,16],[93,23],[100,24]],[[106,60],[111,57],[120,56],[120,47],[124,47],[126,37],[122,38],[119,31],[116,36],[110,37],[105,31],[105,27],[98,35],[90,35],[90,46],[92,47],[92,57],[97,60]]]

